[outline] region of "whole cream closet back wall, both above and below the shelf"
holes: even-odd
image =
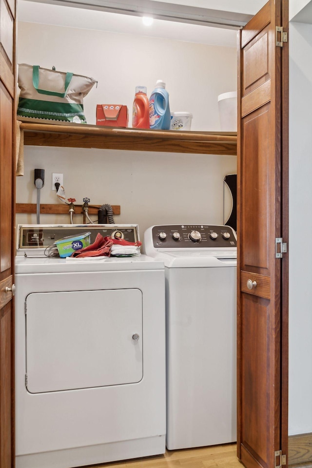
[[[18,62],[98,79],[84,101],[90,124],[97,103],[126,104],[131,111],[135,86],[146,85],[150,94],[162,78],[171,110],[193,113],[192,130],[218,131],[217,96],[236,89],[236,49],[172,39],[20,22]],[[120,205],[115,221],[138,223],[143,234],[165,222],[222,223],[223,177],[236,172],[236,157],[25,147],[17,203],[36,202],[35,168],[45,169],[41,203],[58,203],[51,178],[63,173],[67,197]],[[17,222],[36,223],[36,216],[17,215]],[[41,215],[40,222],[69,217]]]

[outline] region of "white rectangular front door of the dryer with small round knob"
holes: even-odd
[[[31,393],[139,382],[142,292],[36,292],[26,300]]]

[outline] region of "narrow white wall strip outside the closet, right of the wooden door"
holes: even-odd
[[[312,25],[289,36],[289,433],[312,432]]]

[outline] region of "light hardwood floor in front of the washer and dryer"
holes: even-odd
[[[236,444],[166,450],[164,455],[104,463],[96,468],[243,468],[236,457]],[[89,467],[85,467],[89,468]]]

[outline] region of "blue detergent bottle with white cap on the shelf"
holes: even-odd
[[[166,83],[158,79],[150,97],[150,128],[154,130],[170,128],[169,93],[165,87]]]

